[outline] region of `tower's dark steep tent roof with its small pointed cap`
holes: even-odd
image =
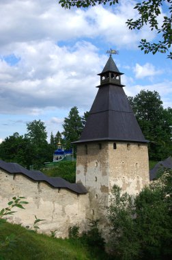
[[[119,71],[111,56],[102,71],[105,70]],[[100,87],[81,138],[76,143],[98,140],[147,142],[123,88],[115,83]]]

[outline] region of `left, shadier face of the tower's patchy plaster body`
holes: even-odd
[[[86,154],[87,150],[87,154]],[[77,146],[76,182],[82,182],[89,191],[87,218],[100,219],[104,224],[106,207],[109,204],[109,153],[108,144],[89,143]]]

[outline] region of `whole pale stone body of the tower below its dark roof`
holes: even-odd
[[[146,143],[89,142],[77,146],[76,182],[89,192],[87,218],[107,223],[107,207],[113,185],[136,195],[149,184],[149,161]],[[104,229],[106,230],[106,229]]]

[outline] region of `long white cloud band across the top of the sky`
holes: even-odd
[[[127,18],[137,17],[134,3],[128,0],[121,1],[115,8],[98,5],[94,8],[65,10],[57,1],[51,0],[1,1],[0,48],[8,53],[15,48],[15,42],[57,42],[81,37],[98,37],[115,43],[117,47],[135,48],[139,39],[147,37],[152,40],[155,34],[147,27],[138,32],[126,27]],[[34,52],[29,47],[26,51]]]

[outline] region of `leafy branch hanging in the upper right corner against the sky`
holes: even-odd
[[[139,18],[135,21],[132,19],[128,19],[126,22],[129,29],[141,29],[143,25],[149,24],[150,29],[156,31],[162,38],[162,40],[154,43],[147,42],[145,39],[141,39],[141,51],[144,51],[145,54],[152,52],[156,54],[157,51],[160,53],[167,53],[171,48],[172,44],[172,1],[167,0],[170,4],[169,6],[169,16],[164,16],[164,21],[162,21],[162,25],[158,23],[158,16],[161,14],[160,8],[162,7],[162,3],[164,0],[148,0],[143,1],[142,3],[137,3],[134,9],[137,9],[139,13]],[[172,52],[169,52],[167,55],[170,59],[172,59]]]

